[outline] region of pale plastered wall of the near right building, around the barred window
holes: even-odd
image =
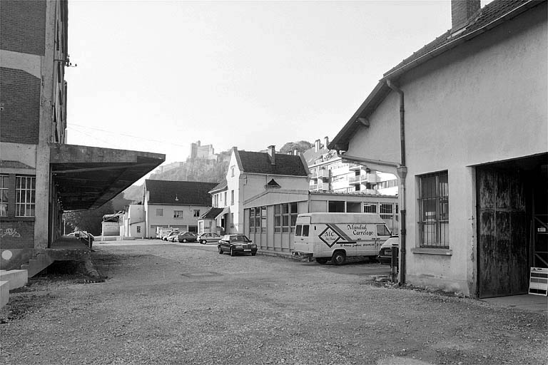
[[[548,151],[547,43],[544,4],[398,81],[405,93],[407,248],[412,249],[407,282],[474,294],[470,166]],[[399,133],[399,103],[390,93],[370,116],[370,128],[355,133],[347,153],[399,162]],[[450,250],[420,253],[419,176],[442,170],[449,175]]]

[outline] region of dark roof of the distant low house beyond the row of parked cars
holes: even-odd
[[[217,183],[198,181],[145,180],[149,192],[148,204],[211,205],[209,190]]]

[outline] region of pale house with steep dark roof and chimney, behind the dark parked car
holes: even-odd
[[[250,197],[268,190],[308,190],[308,168],[301,155],[250,152],[232,148],[226,182],[210,190],[216,212],[216,225],[226,233],[243,233],[245,220],[243,203]],[[296,212],[295,212],[296,213]]]

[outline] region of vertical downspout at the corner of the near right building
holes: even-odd
[[[405,230],[405,176],[407,175],[407,166],[405,165],[405,108],[403,91],[395,86],[392,81],[387,80],[386,85],[395,91],[400,96],[400,152],[402,164],[397,168],[397,175],[400,178],[400,215],[402,217],[400,227],[400,285],[405,284],[405,243],[406,243],[406,230]]]

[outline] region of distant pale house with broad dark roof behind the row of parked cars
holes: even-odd
[[[156,237],[156,229],[173,228],[198,232],[198,218],[209,210],[209,191],[217,183],[198,181],[145,180],[145,237]]]

